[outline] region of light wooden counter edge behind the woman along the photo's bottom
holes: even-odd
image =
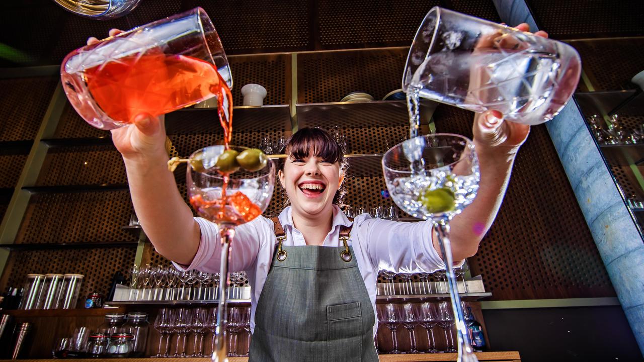
[[[425,362],[425,361],[456,361],[457,354],[455,353],[428,353],[428,354],[381,354],[381,362]],[[521,361],[519,352],[478,352],[477,357],[479,361]],[[101,359],[93,359],[99,361]],[[105,359],[113,361],[114,359]],[[229,362],[247,362],[248,357],[229,357]],[[0,361],[10,361],[8,359],[0,359]],[[23,362],[41,362],[53,361],[52,359],[21,359]],[[118,359],[121,362],[149,362],[149,358],[122,358]],[[164,362],[208,362],[210,358],[164,358]]]

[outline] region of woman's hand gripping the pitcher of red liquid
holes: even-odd
[[[109,36],[115,37],[122,30],[111,29]],[[99,43],[99,39],[90,37],[87,44]],[[164,116],[154,117],[148,113],[137,115],[133,124],[112,129],[112,142],[124,158],[138,160],[150,156],[166,157],[166,126]]]

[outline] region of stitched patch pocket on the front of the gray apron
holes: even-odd
[[[327,361],[359,362],[363,320],[359,301],[327,306]]]

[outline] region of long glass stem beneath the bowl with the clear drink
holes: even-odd
[[[433,224],[437,231],[440,251],[445,259],[445,270],[447,273],[448,290],[450,291],[451,309],[454,313],[456,336],[459,343],[459,355],[457,361],[478,362],[478,359],[472,350],[472,346],[469,344],[468,338],[466,338],[468,334],[467,327],[465,325],[465,318],[463,317],[463,310],[460,307],[459,287],[456,283],[456,278],[452,269],[454,261],[451,256],[451,244],[448,236],[450,234],[450,224],[448,223],[448,220],[445,220],[444,218],[433,220]]]

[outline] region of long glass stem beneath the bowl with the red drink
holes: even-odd
[[[222,256],[220,259],[221,267],[219,269],[219,286],[221,292],[219,294],[219,307],[217,308],[217,327],[214,330],[215,341],[213,349],[214,362],[227,362],[228,353],[226,350],[226,329],[228,327],[228,303],[227,303],[227,287],[228,287],[228,262],[230,259],[232,249],[232,238],[235,235],[235,229],[229,225],[220,225],[219,234],[222,241]]]

